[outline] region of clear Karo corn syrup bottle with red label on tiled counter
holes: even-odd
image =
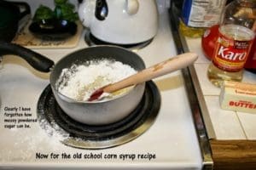
[[[253,44],[256,0],[236,0],[222,14],[218,40],[207,76],[215,86],[224,80],[241,82],[243,66]]]

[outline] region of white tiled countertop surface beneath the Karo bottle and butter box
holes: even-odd
[[[225,111],[219,106],[220,88],[212,85],[207,79],[207,67],[211,62],[203,54],[201,49],[201,38],[186,38],[190,51],[199,54],[195,62],[195,71],[198,78],[201,93],[204,96],[207,112],[210,116],[212,127],[208,127],[211,139],[256,139],[256,114],[239,111]],[[244,71],[242,82],[256,83],[256,75]],[[213,132],[210,132],[213,130]]]

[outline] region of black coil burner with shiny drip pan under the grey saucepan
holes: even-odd
[[[40,126],[59,132],[63,144],[83,149],[108,148],[136,139],[153,124],[159,110],[160,93],[152,81],[146,82],[143,99],[129,116],[103,126],[86,125],[67,116],[57,105],[50,86],[38,100]]]

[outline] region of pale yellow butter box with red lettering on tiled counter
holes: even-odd
[[[224,81],[219,102],[224,110],[256,113],[256,84]]]

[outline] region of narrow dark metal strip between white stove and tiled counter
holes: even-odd
[[[171,24],[171,31],[172,31],[172,37],[175,42],[175,46],[177,49],[177,54],[183,54],[186,52],[189,52],[188,46],[186,44],[186,41],[184,37],[180,34],[178,31],[178,15],[179,12],[177,8],[175,7],[175,4],[171,4],[171,8],[169,10],[170,14],[170,24]],[[183,74],[183,81],[185,84],[186,92],[189,99],[189,105],[192,112],[194,124],[195,124],[195,131],[197,133],[197,138],[199,140],[200,148],[201,148],[201,156],[202,156],[202,169],[212,169],[213,168],[213,161],[212,161],[212,150],[211,146],[209,144],[209,138],[207,134],[206,125],[204,122],[204,119],[202,117],[201,113],[201,105],[200,101],[197,97],[198,94],[197,90],[195,89],[195,84],[191,75],[191,71],[193,73],[193,69],[191,70],[191,66],[193,68],[193,65],[190,65],[187,68],[184,68],[182,70]],[[195,69],[194,69],[195,71]],[[195,72],[194,72],[195,74]],[[194,75],[196,76],[196,75]],[[200,87],[198,87],[199,89]],[[210,124],[212,125],[212,123]],[[211,129],[213,129],[212,126],[210,126]],[[214,132],[213,130],[211,132]],[[213,135],[213,134],[212,134]]]

